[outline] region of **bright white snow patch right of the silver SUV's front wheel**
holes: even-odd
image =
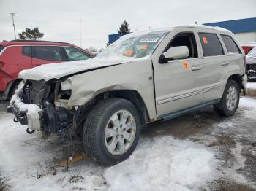
[[[214,154],[191,141],[143,141],[123,163],[105,171],[110,190],[199,190],[213,178]]]

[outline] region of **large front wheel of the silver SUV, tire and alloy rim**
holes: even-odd
[[[130,101],[124,98],[101,101],[89,112],[83,125],[86,153],[105,165],[120,163],[135,150],[140,138],[140,126],[138,110]]]

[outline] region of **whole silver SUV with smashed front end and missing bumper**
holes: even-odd
[[[27,132],[82,131],[86,152],[114,165],[140,128],[213,105],[231,116],[246,92],[244,52],[223,28],[175,26],[122,36],[94,59],[21,71],[7,112]]]

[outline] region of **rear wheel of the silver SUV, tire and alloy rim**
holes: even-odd
[[[227,85],[225,87],[221,101],[219,101],[218,104],[214,104],[214,111],[223,117],[229,117],[235,114],[239,105],[239,99],[240,99],[239,94],[240,94],[240,88],[238,87],[237,82],[234,81],[233,79],[229,79],[227,81]]]

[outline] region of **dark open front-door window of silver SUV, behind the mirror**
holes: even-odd
[[[189,58],[197,58],[197,44],[195,41],[195,35],[193,33],[182,33],[178,34],[171,40],[170,44],[168,44],[166,50],[170,47],[179,47],[179,46],[187,46],[189,49]]]

